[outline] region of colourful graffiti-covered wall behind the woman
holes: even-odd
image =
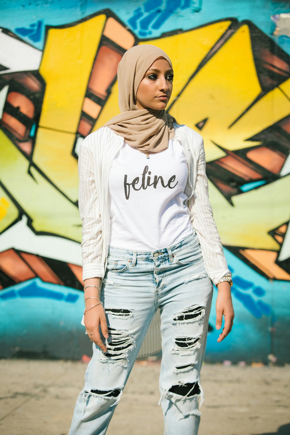
[[[119,113],[117,66],[167,52],[168,112],[204,138],[235,321],[206,361],[289,362],[290,8],[243,0],[0,1],[0,356],[80,358],[77,158]],[[104,6],[105,5],[105,6]]]

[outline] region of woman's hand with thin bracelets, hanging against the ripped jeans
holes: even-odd
[[[87,300],[86,309],[92,305],[95,305],[95,303],[98,303],[96,299]],[[107,347],[101,340],[99,330],[100,325],[103,336],[105,338],[109,338],[106,315],[103,309],[103,305],[97,305],[96,307],[90,308],[90,310],[86,311],[84,315],[84,324],[90,340],[96,343],[96,345],[99,346],[99,348],[104,353],[106,353]]]

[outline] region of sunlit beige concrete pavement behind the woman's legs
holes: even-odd
[[[67,435],[87,363],[0,360],[0,433]],[[163,435],[160,361],[137,361],[107,435]],[[289,435],[290,367],[203,364],[199,435]],[[184,434],[187,435],[187,434]]]

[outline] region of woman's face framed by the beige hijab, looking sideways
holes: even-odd
[[[136,94],[139,109],[165,109],[172,94],[173,70],[163,57],[158,57],[140,81]]]

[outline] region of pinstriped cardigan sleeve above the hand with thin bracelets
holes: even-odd
[[[83,280],[104,276],[100,203],[97,197],[90,145],[90,137],[86,137],[80,145],[78,158],[79,212],[83,222],[81,241]]]

